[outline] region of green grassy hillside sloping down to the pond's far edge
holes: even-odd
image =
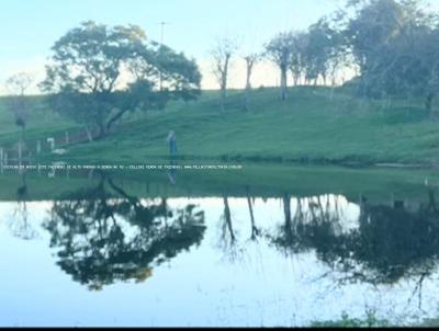
[[[243,103],[244,94],[232,91],[222,113],[216,92],[205,92],[196,102],[131,115],[124,118],[128,125],[105,139],[69,146],[68,159],[145,162],[167,155],[166,137],[173,129],[187,159],[439,164],[439,124],[420,102],[365,101],[342,90],[296,88],[285,102],[277,89],[259,89],[249,112]],[[3,121],[8,116],[0,100],[0,146],[16,139],[13,118]],[[65,129],[79,127],[36,100],[26,130],[30,145]]]

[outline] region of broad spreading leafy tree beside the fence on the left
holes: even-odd
[[[99,128],[102,137],[126,112],[164,107],[172,98],[196,95],[201,80],[196,64],[157,45],[147,43],[136,25],[82,23],[55,43],[53,64],[41,88],[50,93],[56,111]],[[168,87],[162,91],[160,70]]]

